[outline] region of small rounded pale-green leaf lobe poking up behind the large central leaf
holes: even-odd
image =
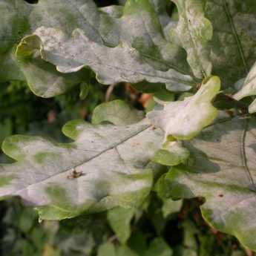
[[[120,99],[113,100],[98,105],[93,111],[93,124],[101,122],[111,122],[114,125],[131,125],[140,122],[144,114],[131,108],[127,103]]]

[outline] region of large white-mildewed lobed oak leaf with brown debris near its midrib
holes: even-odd
[[[1,198],[22,197],[50,220],[142,203],[151,190],[149,163],[162,131],[143,119],[119,126],[74,120],[63,132],[74,142],[19,135],[4,140],[4,153],[17,162],[0,165]]]

